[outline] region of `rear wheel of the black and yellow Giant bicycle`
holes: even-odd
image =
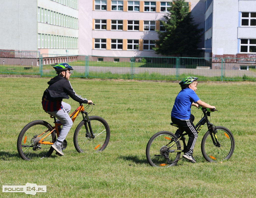
[[[161,154],[163,150],[166,150],[166,146],[170,139],[176,139],[177,137],[169,132],[169,131],[160,131],[154,134],[147,143],[146,148],[146,157],[147,161],[151,166],[158,166],[158,167],[169,167],[174,166],[177,164],[177,161],[180,157],[181,152],[169,152],[168,159],[174,163],[168,163],[166,157]],[[168,150],[181,150],[180,142],[177,141],[170,149]]]

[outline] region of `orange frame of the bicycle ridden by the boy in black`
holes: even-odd
[[[82,112],[82,115],[83,115],[83,119],[85,119],[85,116],[84,114],[86,114],[86,118],[87,120],[89,120],[89,117],[88,117],[88,113],[84,111],[84,107],[82,105],[82,103],[80,103],[80,106],[73,112],[71,113],[71,115],[69,116],[70,118],[72,118],[72,121],[74,122],[75,119],[77,118],[78,114]],[[50,131],[46,136],[44,136],[41,140],[39,140],[38,143],[41,143],[41,144],[53,144],[53,142],[50,142],[50,141],[43,141],[47,136],[49,136],[54,130],[56,130],[56,133],[57,133],[57,137],[59,137],[59,130],[58,130],[58,126],[61,126],[62,124],[61,123],[57,123],[56,122],[56,117],[50,115],[51,118],[54,118],[54,123],[55,123],[55,128]],[[86,126],[87,127],[87,126]],[[89,127],[90,127],[90,131],[91,130],[91,125],[89,124]],[[37,137],[40,137],[42,136],[43,134],[47,133],[49,130],[46,130],[45,132],[41,133],[39,136]]]

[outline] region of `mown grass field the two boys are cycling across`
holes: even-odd
[[[89,115],[103,117],[110,126],[107,148],[100,153],[77,153],[74,122],[64,156],[22,160],[17,137],[33,120],[52,119],[41,108],[49,78],[0,78],[0,184],[46,185],[36,197],[256,197],[255,82],[199,82],[199,98],[216,106],[211,122],[231,130],[235,139],[232,157],[223,163],[208,163],[200,145],[206,126],[194,149],[197,163],[178,161],[169,168],[151,167],[145,149],[150,137],[162,130],[174,132],[170,112],[178,83],[132,80],[86,80],[71,78],[77,94],[96,104]],[[67,100],[66,100],[67,101]],[[74,111],[76,101],[68,100]],[[201,111],[192,107],[195,122]],[[2,193],[0,197],[31,197],[25,193]]]

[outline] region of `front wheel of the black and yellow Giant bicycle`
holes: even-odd
[[[218,131],[216,136],[220,147],[213,144],[210,131],[204,134],[201,142],[202,154],[208,162],[218,162],[229,159],[234,152],[235,141],[231,131],[222,126],[217,126],[216,130]]]

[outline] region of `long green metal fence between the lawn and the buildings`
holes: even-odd
[[[192,75],[200,80],[256,80],[255,58],[105,57],[0,51],[0,74],[55,76],[52,68],[68,62],[72,76],[145,80],[180,80]]]

